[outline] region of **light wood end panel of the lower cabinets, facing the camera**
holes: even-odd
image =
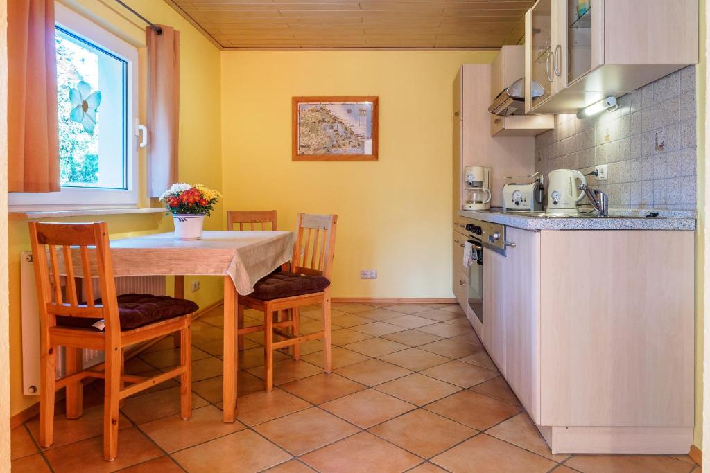
[[[694,233],[543,231],[542,425],[693,425]]]

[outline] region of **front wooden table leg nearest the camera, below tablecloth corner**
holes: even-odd
[[[224,277],[224,376],[222,380],[222,421],[234,422],[236,410],[237,362],[236,289],[229,276]]]

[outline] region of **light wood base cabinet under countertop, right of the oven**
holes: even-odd
[[[479,335],[552,452],[687,452],[694,232],[508,227],[506,240],[506,255],[484,250]]]

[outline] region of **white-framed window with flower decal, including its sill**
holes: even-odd
[[[56,5],[60,192],[10,194],[13,209],[135,206],[138,51]]]

